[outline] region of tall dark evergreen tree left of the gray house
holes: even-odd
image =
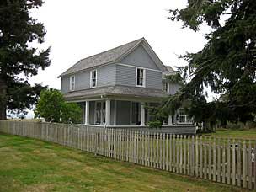
[[[44,42],[46,31],[29,12],[42,4],[41,0],[0,1],[0,120],[6,119],[7,109],[19,113],[31,108],[43,88],[31,87],[27,80],[51,63],[50,48],[32,46]]]

